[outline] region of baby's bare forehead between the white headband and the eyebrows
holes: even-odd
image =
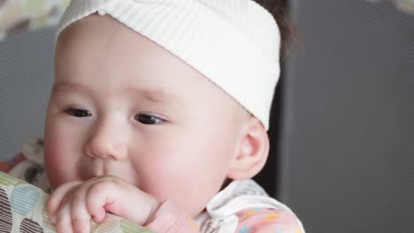
[[[90,89],[101,84],[100,91],[111,86],[152,102],[171,101],[181,106],[200,96],[211,100],[231,98],[211,79],[141,34],[129,28],[119,30],[126,31],[126,35],[107,34],[105,28],[99,26],[90,34],[83,30],[83,23],[88,29],[99,22],[92,21],[92,25],[88,25],[84,21],[68,28],[67,33],[72,35],[63,40],[57,52],[58,90]],[[83,52],[85,49],[89,52]]]

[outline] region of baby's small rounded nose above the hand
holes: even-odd
[[[89,137],[85,154],[104,160],[124,160],[127,149],[123,136],[118,131],[113,131],[113,127],[101,127]]]

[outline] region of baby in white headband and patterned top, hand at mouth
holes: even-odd
[[[250,180],[279,50],[251,0],[73,0],[40,144],[58,232],[106,213],[156,232],[304,232]]]

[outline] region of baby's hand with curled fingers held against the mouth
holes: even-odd
[[[121,178],[104,176],[60,185],[47,207],[58,232],[89,232],[90,220],[103,222],[106,212],[143,225],[158,205],[157,199]]]

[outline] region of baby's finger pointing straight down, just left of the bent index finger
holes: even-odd
[[[88,233],[90,231],[90,214],[86,208],[86,192],[80,191],[73,194],[71,216],[74,232]]]

